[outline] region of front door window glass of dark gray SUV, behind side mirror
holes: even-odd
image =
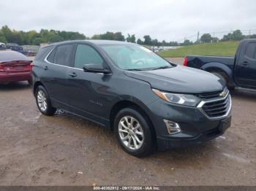
[[[103,59],[93,47],[86,44],[78,44],[75,52],[74,67],[77,69],[83,69],[83,65],[89,63],[97,63],[102,65]]]

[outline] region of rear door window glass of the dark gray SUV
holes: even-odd
[[[73,44],[65,44],[56,47],[54,63],[62,66],[72,66]]]

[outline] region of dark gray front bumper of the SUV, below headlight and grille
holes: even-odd
[[[199,108],[170,104],[161,99],[148,105],[148,108],[159,150],[200,144],[221,136],[230,127],[230,111],[224,117],[210,119]],[[164,120],[177,122],[181,132],[170,135]]]

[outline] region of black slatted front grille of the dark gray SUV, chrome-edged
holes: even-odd
[[[215,101],[206,101],[202,109],[210,118],[223,117],[229,112],[231,106],[230,95],[227,94],[225,98],[217,99]]]

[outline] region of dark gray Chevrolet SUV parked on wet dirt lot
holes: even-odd
[[[32,68],[40,112],[77,114],[114,130],[138,157],[214,139],[230,127],[225,82],[169,63],[146,47],[70,41],[42,47]]]

